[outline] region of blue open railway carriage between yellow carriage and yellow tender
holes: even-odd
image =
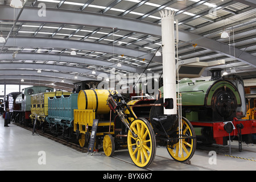
[[[48,116],[46,121],[53,134],[72,138],[73,110],[77,109],[78,94],[48,97]]]

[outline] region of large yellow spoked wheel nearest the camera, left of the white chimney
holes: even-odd
[[[151,165],[155,159],[156,143],[154,131],[144,118],[135,119],[130,126],[131,131],[127,135],[127,147],[133,163],[142,168]]]

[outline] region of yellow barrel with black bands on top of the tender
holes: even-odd
[[[110,90],[80,90],[77,97],[78,109],[93,109],[97,114],[108,114],[110,111],[107,99]]]

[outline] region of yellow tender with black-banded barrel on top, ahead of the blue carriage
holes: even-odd
[[[93,119],[99,119],[97,139],[104,133],[114,134],[114,122],[110,118],[110,108],[107,105],[110,90],[80,90],[77,98],[77,108],[74,109],[74,131],[79,137],[81,147],[89,142]]]

